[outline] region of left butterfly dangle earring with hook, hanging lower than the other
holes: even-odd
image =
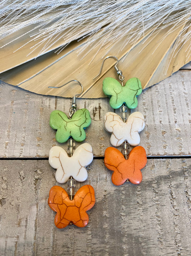
[[[87,179],[86,166],[93,160],[92,147],[88,143],[83,143],[75,150],[75,141],[82,142],[86,138],[85,128],[91,123],[90,112],[86,108],[76,111],[76,94],[72,98],[72,107],[69,118],[65,113],[54,110],[50,115],[50,126],[57,130],[56,140],[60,143],[67,141],[67,152],[58,146],[51,148],[49,152],[49,163],[56,170],[55,179],[58,183],[68,185],[67,192],[59,186],[54,186],[49,192],[48,205],[57,212],[54,223],[57,228],[65,228],[71,222],[78,227],[85,227],[88,224],[87,215],[95,204],[94,188],[91,185],[84,185],[76,192],[76,181]],[[64,84],[64,85],[66,85]],[[62,86],[64,86],[62,85]],[[49,86],[49,88],[60,88]]]

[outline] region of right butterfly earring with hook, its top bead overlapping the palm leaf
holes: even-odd
[[[140,80],[136,77],[130,78],[125,85],[123,84],[125,78],[117,67],[118,58],[115,56],[108,56],[103,60],[96,77],[100,75],[104,61],[108,58],[114,58],[117,61],[114,68],[121,84],[114,78],[106,77],[103,80],[103,92],[110,98],[109,103],[112,108],[120,108],[120,116],[113,112],[106,113],[104,127],[111,133],[111,144],[114,147],[122,146],[122,153],[113,147],[106,148],[104,163],[109,170],[113,171],[111,176],[113,184],[121,185],[125,181],[139,184],[142,181],[140,169],[147,163],[145,149],[137,146],[140,143],[139,132],[144,129],[145,123],[142,113],[133,112],[127,117],[127,110],[137,107],[137,96],[142,93],[142,87]],[[129,145],[137,147],[128,153]]]

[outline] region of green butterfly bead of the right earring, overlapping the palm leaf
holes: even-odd
[[[106,77],[103,81],[103,92],[110,97],[109,104],[112,108],[120,108],[123,103],[128,108],[136,108],[137,95],[142,93],[140,80],[136,77],[130,78],[124,86],[112,77]]]

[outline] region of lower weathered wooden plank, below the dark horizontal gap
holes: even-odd
[[[1,160],[0,254],[190,255],[191,159],[149,159],[139,185],[113,185],[103,160],[88,172],[83,184],[96,197],[89,224],[60,230],[47,204],[56,185],[48,160]]]

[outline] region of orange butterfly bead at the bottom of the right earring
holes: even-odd
[[[105,166],[114,171],[111,180],[115,185],[123,184],[127,179],[133,184],[142,181],[142,169],[147,163],[145,149],[137,146],[129,153],[129,159],[125,159],[123,154],[116,148],[109,147],[105,150]]]

